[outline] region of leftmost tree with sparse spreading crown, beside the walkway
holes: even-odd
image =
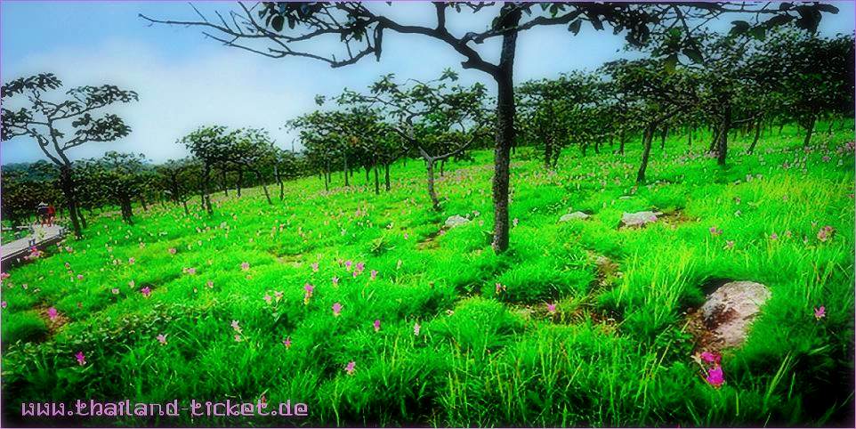
[[[50,73],[21,77],[0,89],[4,105],[14,105],[16,96],[25,96],[27,107],[0,109],[2,135],[6,142],[26,136],[38,143],[44,156],[60,168],[60,187],[69,206],[72,228],[77,239],[83,237],[78,220],[75,177],[68,151],[86,142],[113,142],[131,133],[121,117],[105,114],[94,117],[93,112],[117,102],[136,101],[137,93],[114,85],[79,86],[68,92],[69,99],[49,101],[49,91],[59,89],[62,82]],[[67,135],[70,134],[70,135]]]

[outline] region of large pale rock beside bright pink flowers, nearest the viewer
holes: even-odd
[[[724,347],[742,344],[749,324],[770,299],[770,289],[754,281],[732,281],[707,295],[701,306],[701,319]]]

